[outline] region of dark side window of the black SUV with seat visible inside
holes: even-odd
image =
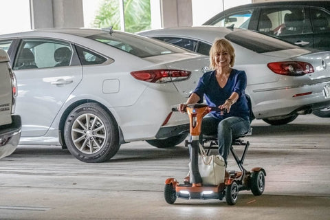
[[[311,32],[311,22],[303,7],[262,8],[257,30],[275,36],[306,34]]]

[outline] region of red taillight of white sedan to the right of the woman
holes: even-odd
[[[305,74],[314,73],[314,67],[310,63],[287,61],[268,63],[267,67],[275,74],[286,76],[303,76]]]

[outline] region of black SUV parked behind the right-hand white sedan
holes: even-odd
[[[203,25],[262,32],[303,47],[330,50],[330,1],[272,1],[224,10]]]

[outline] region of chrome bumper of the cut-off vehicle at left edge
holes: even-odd
[[[21,137],[21,117],[12,115],[12,124],[0,127],[0,158],[11,155],[19,144]]]

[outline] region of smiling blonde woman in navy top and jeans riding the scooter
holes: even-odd
[[[234,47],[225,39],[217,39],[210,49],[212,71],[203,74],[196,89],[185,104],[178,109],[185,112],[187,104],[201,102],[205,98],[210,107],[223,110],[210,112],[203,118],[201,133],[218,135],[219,154],[227,164],[232,137],[248,133],[250,129],[248,100],[245,97],[246,74],[232,69]]]

